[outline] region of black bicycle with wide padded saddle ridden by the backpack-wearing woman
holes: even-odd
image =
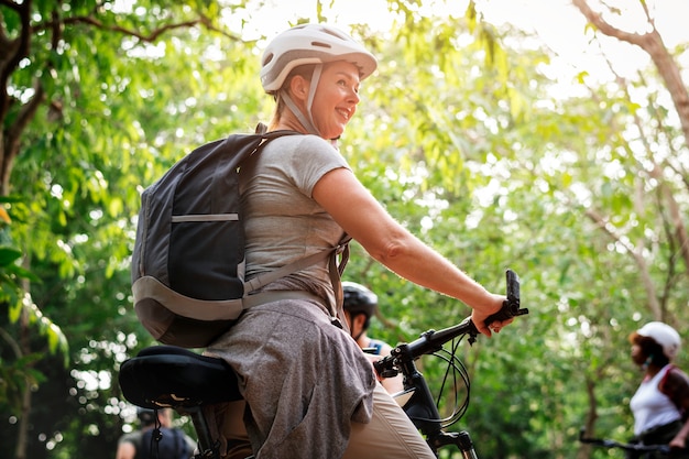
[[[512,270],[507,270],[505,275],[507,299],[502,309],[490,316],[485,324],[528,314],[528,309],[521,308],[520,305],[518,276]],[[400,343],[391,356],[374,363],[382,378],[403,374],[404,391],[396,394],[395,400],[424,435],[436,456],[439,448],[455,445],[466,459],[478,459],[467,431],[446,431],[447,427],[461,418],[469,404],[470,381],[463,364],[456,357],[456,351],[466,336],[469,337],[469,343],[473,345],[478,335],[475,325],[468,317],[452,327],[439,331],[431,329],[409,343]],[[451,340],[451,350],[445,350],[444,345]],[[446,381],[451,372],[455,378],[459,374],[467,385],[463,404],[459,408],[456,406],[448,418],[440,417],[437,402],[434,401],[424,375],[416,368],[415,360],[425,354],[439,356],[447,360]],[[188,416],[198,436],[198,453],[195,459],[220,457],[220,442],[211,438],[204,406],[242,400],[237,375],[227,362],[183,348],[153,346],[122,363],[119,383],[124,398],[136,406],[153,409],[169,407],[181,416]]]

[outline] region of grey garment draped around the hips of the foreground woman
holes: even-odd
[[[371,419],[372,365],[315,302],[252,307],[206,353],[239,376],[256,458],[341,457],[351,423]]]

